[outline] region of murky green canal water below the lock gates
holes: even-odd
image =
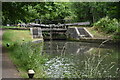
[[[86,42],[46,41],[43,54],[48,78],[106,78],[119,77],[117,45]]]

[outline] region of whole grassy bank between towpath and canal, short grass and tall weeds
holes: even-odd
[[[47,61],[47,56],[41,54],[43,43],[31,41],[30,32],[26,30],[5,30],[3,34],[3,46],[7,48],[21,76],[27,78],[27,71],[33,69],[36,78],[43,78],[46,76],[43,64]]]

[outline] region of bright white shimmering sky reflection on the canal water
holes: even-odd
[[[68,58],[63,57],[52,58],[45,64],[48,68],[46,69],[48,76],[53,78],[64,78],[65,76],[68,77],[74,74],[74,64],[69,61],[70,60]]]

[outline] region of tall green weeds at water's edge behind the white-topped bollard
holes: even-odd
[[[43,64],[48,60],[48,56],[41,54],[42,46],[43,43],[27,42],[15,44],[9,49],[10,56],[20,72],[26,73],[28,70],[33,69],[36,72],[35,77],[45,77]],[[38,74],[39,76],[37,76]],[[25,75],[22,73],[22,76],[27,77]]]

